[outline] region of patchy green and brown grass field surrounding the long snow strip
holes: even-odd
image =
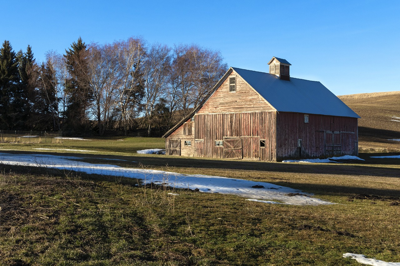
[[[342,258],[346,252],[400,262],[400,206],[391,205],[400,200],[390,198],[400,197],[399,159],[361,154],[366,161],[288,164],[135,153],[163,148],[163,141],[96,139],[56,147],[99,151],[73,154],[92,163],[265,181],[338,204],[262,204],[138,187],[135,179],[2,165],[0,264],[359,265]],[[0,145],[24,150],[7,151],[13,153],[38,153],[32,150],[38,146]],[[72,155],[52,154],[58,152]],[[384,200],[350,199],[360,194]]]

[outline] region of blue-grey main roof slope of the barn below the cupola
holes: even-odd
[[[237,67],[232,69],[278,112],[360,118],[319,81],[294,77],[290,77],[290,81],[287,81],[269,73]]]

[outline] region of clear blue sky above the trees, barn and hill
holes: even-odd
[[[228,66],[268,72],[272,56],[290,75],[321,81],[336,95],[400,91],[398,0],[92,1],[0,0],[0,41],[32,46],[37,62],[65,53],[79,36],[112,43],[196,43]]]

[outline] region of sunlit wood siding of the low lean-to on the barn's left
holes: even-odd
[[[190,133],[190,135],[184,135]],[[180,155],[182,156],[194,156],[194,122],[190,119],[176,129],[171,135],[166,138],[165,148],[166,154],[170,154],[170,140],[180,140]],[[191,146],[185,146],[185,141],[191,141]]]

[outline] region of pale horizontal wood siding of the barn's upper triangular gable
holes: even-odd
[[[236,77],[235,92],[229,91],[229,77]],[[235,71],[232,71],[197,113],[241,113],[257,111],[274,111],[274,109],[254,89],[247,85]]]

